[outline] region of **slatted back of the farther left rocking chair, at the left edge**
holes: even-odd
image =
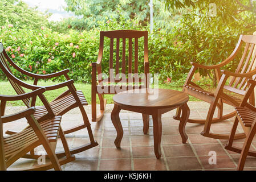
[[[5,75],[7,76],[6,74],[6,71],[9,71],[11,72],[11,69],[10,69],[10,66],[9,64],[11,65],[14,65],[15,63],[10,59],[10,57],[7,55],[5,49],[3,48],[3,44],[0,43],[0,64],[3,65],[2,68],[2,71],[3,73],[5,73]],[[16,65],[16,64],[15,64]],[[18,65],[16,65],[18,67]],[[12,72],[11,72],[12,73]],[[24,94],[26,93],[22,86],[17,84],[16,82],[14,82],[13,80],[11,80],[8,76],[7,76],[8,80],[10,81],[10,84],[11,86],[13,86],[15,92],[17,94]],[[22,100],[24,102],[24,104],[27,106],[27,107],[30,107],[30,99],[25,99],[25,100]]]

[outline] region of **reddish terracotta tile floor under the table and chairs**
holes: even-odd
[[[228,111],[228,110],[225,110]],[[200,112],[202,114],[200,114]],[[116,130],[112,125],[110,113],[97,123],[92,123],[92,131],[99,146],[76,154],[76,160],[62,166],[63,170],[235,170],[239,155],[224,149],[226,140],[210,139],[200,135],[203,126],[188,123],[186,132],[189,140],[182,144],[178,134],[178,122],[172,118],[175,111],[162,115],[162,157],[157,160],[153,151],[153,124],[150,119],[150,128],[147,135],[143,134],[143,121],[139,113],[120,113],[124,129],[121,150],[116,149],[114,140]],[[190,117],[201,119],[206,111],[192,110]],[[90,118],[91,115],[88,114]],[[62,119],[63,128],[67,128],[81,121],[78,114],[66,114]],[[7,123],[4,129],[22,129],[26,121]],[[222,123],[213,124],[212,132],[229,133],[233,119]],[[241,131],[241,129],[240,129]],[[76,147],[88,142],[86,129],[66,135],[70,147]],[[242,146],[243,140],[235,141],[237,146]],[[56,150],[62,150],[62,145],[57,145]],[[251,146],[256,149],[256,140]],[[217,154],[217,164],[210,165],[208,155],[210,151]],[[31,166],[36,160],[20,159],[10,168]],[[255,170],[256,159],[247,159],[245,170]]]

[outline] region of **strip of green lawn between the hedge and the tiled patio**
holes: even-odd
[[[32,84],[32,81],[26,81],[29,84]],[[58,84],[58,82],[51,82],[51,81],[38,81],[38,85],[40,86],[47,86],[47,85],[55,85]],[[91,85],[90,84],[83,84],[83,83],[75,83],[75,87],[78,90],[82,90],[84,93],[84,96],[86,97],[86,100],[88,102],[88,104],[91,104]],[[0,82],[0,94],[1,95],[17,95],[17,93],[14,91],[13,87],[11,86],[10,82],[5,82],[5,81],[1,81]],[[174,87],[172,85],[169,84],[161,84],[159,85],[159,88],[162,89],[173,89],[173,90],[182,90],[182,87]],[[51,91],[47,91],[44,93],[44,96],[46,96],[48,101],[52,101],[54,100],[54,98],[56,98],[57,96],[59,96],[59,94],[61,94],[62,92],[64,92],[65,90],[67,90],[67,87],[65,88],[61,88],[58,90],[51,90]],[[31,90],[29,89],[25,89],[25,92],[30,92]],[[113,100],[112,100],[113,95],[104,95],[104,98],[107,98],[107,104],[112,104]],[[198,101],[196,98],[194,97],[190,97],[190,101]],[[99,104],[99,100],[97,98],[97,103]],[[36,100],[36,105],[42,105],[42,102],[37,99]],[[23,104],[22,101],[11,101],[11,102],[7,102],[7,106],[25,106]]]

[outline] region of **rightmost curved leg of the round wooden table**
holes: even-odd
[[[182,116],[181,116],[180,125],[178,125],[178,131],[180,132],[182,143],[186,143],[186,141],[188,140],[188,135],[186,134],[185,126],[186,126],[186,122],[188,122],[190,109],[187,104],[182,105],[181,109],[182,109]]]

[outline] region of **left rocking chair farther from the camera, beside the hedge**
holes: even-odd
[[[23,82],[19,80],[17,77],[15,77],[11,72],[11,68],[9,67],[9,65],[11,65],[18,72],[21,72],[26,76],[30,76],[34,78],[35,79],[34,85],[27,84],[26,82]],[[97,142],[94,140],[94,136],[92,134],[91,124],[88,120],[86,111],[84,110],[84,107],[83,107],[84,105],[88,105],[86,98],[84,98],[82,91],[76,90],[74,86],[74,80],[70,80],[70,77],[68,77],[67,75],[68,69],[60,71],[58,73],[52,73],[50,75],[36,75],[34,73],[27,72],[24,69],[19,68],[18,65],[15,64],[10,59],[5,49],[3,48],[2,43],[0,43],[0,68],[2,69],[3,73],[5,73],[6,77],[10,81],[11,85],[13,86],[17,94],[25,94],[25,91],[23,88],[27,88],[31,90],[42,88],[42,86],[36,85],[39,79],[48,79],[48,78],[64,75],[67,78],[67,81],[57,85],[44,86],[44,88],[46,88],[46,90],[55,90],[55,89],[67,87],[68,89],[64,93],[60,94],[59,97],[55,98],[55,100],[53,100],[52,102],[48,102],[46,97],[44,97],[44,95],[41,94],[39,98],[43,102],[43,106],[36,106],[34,117],[38,122],[41,122],[41,121],[45,121],[46,119],[50,119],[56,115],[63,115],[67,113],[67,111],[74,109],[75,107],[79,107],[83,116],[83,123],[81,125],[74,126],[68,130],[65,130],[64,134],[73,133],[80,129],[87,128],[87,131],[90,137],[90,143],[84,144],[80,147],[72,148],[70,152],[71,154],[76,154],[78,152],[82,152],[84,150],[88,150],[89,148],[97,146]],[[35,106],[36,96],[32,98],[25,98],[22,101],[27,107]],[[2,102],[2,105],[1,105],[2,115],[5,113],[4,107],[5,107],[5,102]],[[7,131],[7,134],[15,134],[15,132]],[[58,152],[57,154],[58,157],[61,157],[64,155],[65,155],[64,151]],[[34,154],[34,152],[31,152],[31,156],[32,158],[37,157],[36,154]],[[30,158],[31,156],[27,156],[27,157]]]

